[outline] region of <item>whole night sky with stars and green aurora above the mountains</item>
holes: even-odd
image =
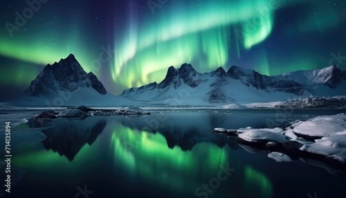
[[[346,1],[15,0],[1,2],[0,100],[73,53],[115,95],[169,66],[265,75],[346,70]]]

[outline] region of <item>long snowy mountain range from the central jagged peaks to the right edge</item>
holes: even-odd
[[[120,94],[120,97],[129,99],[140,98],[141,101],[144,100],[149,103],[154,102],[154,100],[165,103],[165,100],[168,100],[168,98],[188,99],[188,97],[178,97],[179,91],[176,91],[178,89],[190,89],[190,93],[203,92],[197,89],[206,89],[207,91],[199,95],[194,94],[192,98],[197,103],[199,103],[197,100],[204,100],[203,102],[210,103],[210,105],[227,104],[229,102],[272,102],[288,98],[307,97],[312,94],[316,95],[319,93],[320,87],[323,90],[328,88],[329,90],[326,93],[331,93],[334,88],[338,87],[338,83],[346,82],[346,72],[340,71],[336,66],[304,72],[319,73],[318,77],[322,78],[321,76],[323,76],[323,78],[328,78],[328,80],[318,84],[319,87],[316,89],[316,86],[312,87],[311,84],[303,84],[291,78],[284,78],[282,77],[284,74],[280,76],[262,75],[257,71],[243,69],[239,66],[231,66],[227,72],[222,67],[219,67],[215,71],[199,73],[191,64],[185,63],[178,69],[170,66],[167,69],[165,78],[161,82],[125,89]],[[313,83],[313,85],[316,85],[316,83]],[[234,90],[232,91],[231,89]],[[243,94],[239,90],[246,92],[244,95],[248,96],[248,98],[246,96],[239,97],[239,95]],[[335,95],[340,94],[340,90],[336,92]],[[273,100],[270,99],[271,95],[273,95],[273,98],[271,98]],[[249,99],[254,97],[258,97],[260,101]]]

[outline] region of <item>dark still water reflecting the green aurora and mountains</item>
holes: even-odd
[[[12,134],[45,127],[47,138],[12,151],[12,165],[28,173],[10,195],[314,197],[316,192],[317,197],[345,197],[345,168],[301,156],[277,163],[264,150],[211,132],[214,127],[285,127],[293,120],[340,112],[153,111],[149,116],[29,120]]]

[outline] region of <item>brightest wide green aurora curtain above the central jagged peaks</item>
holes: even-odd
[[[198,8],[170,9],[170,17],[164,12],[148,26],[131,26],[124,43],[115,44],[112,78],[138,87],[162,80],[170,65],[197,61],[200,65],[194,66],[201,72],[226,66],[230,46],[250,50],[270,35],[278,6],[266,0],[203,1]]]

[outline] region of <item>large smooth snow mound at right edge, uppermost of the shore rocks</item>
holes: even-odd
[[[318,116],[307,121],[295,123],[295,134],[306,136],[331,136],[346,134],[346,114]]]

